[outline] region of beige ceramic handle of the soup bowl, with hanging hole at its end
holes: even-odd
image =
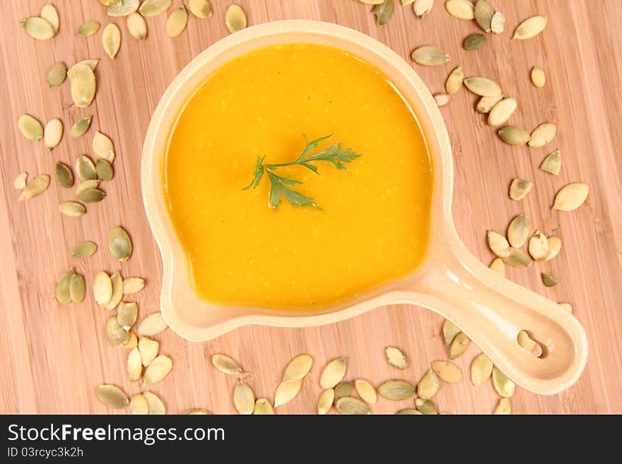
[[[518,386],[544,395],[572,386],[587,360],[575,316],[484,266],[457,237],[447,243],[430,256],[413,302],[452,321]],[[540,357],[518,344],[523,330],[541,345]]]

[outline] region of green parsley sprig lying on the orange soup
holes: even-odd
[[[281,196],[284,196],[285,199],[293,205],[319,208],[317,203],[315,203],[314,198],[305,196],[299,191],[291,188],[302,184],[302,182],[292,179],[291,176],[279,176],[278,174],[275,174],[274,171],[279,167],[299,165],[304,166],[307,169],[311,169],[315,172],[315,174],[319,174],[319,172],[317,172],[317,166],[311,164],[319,161],[327,161],[336,167],[336,169],[347,169],[344,163],[351,162],[360,155],[351,148],[341,148],[340,143],[333,143],[328,148],[324,148],[324,150],[319,150],[317,153],[311,154],[320,142],[327,140],[327,138],[330,138],[332,135],[333,134],[329,134],[328,136],[316,138],[315,140],[309,142],[307,141],[307,137],[303,134],[303,137],[305,138],[305,149],[295,161],[282,162],[279,164],[264,164],[266,157],[258,156],[255,161],[252,181],[242,190],[257,189],[264,178],[264,174],[267,174],[270,182],[270,191],[268,196],[269,208],[276,210],[278,205],[281,203]]]

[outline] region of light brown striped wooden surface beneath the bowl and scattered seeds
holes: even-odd
[[[176,39],[165,35],[166,15],[148,19],[148,38],[134,40],[124,18],[108,18],[96,0],[53,0],[60,14],[59,34],[38,42],[22,30],[20,20],[38,15],[44,0],[2,0],[0,4],[0,412],[106,413],[95,399],[99,383],[115,383],[129,394],[141,390],[125,374],[127,350],[106,340],[107,311],[93,302],[90,289],[83,304],[60,306],[54,300],[54,282],[70,266],[88,281],[99,270],[119,270],[105,247],[113,226],[122,224],[134,241],[134,256],[122,263],[122,275],[148,281],[136,295],[140,317],[158,310],[161,264],[141,201],[140,160],[143,136],[160,95],[178,71],[194,56],[227,34],[224,11],[229,1],[212,0],[208,20],[191,17],[187,30]],[[181,0],[175,0],[178,6]],[[554,396],[539,396],[517,388],[512,398],[517,413],[622,413],[622,2],[618,0],[491,0],[503,11],[503,35],[488,35],[477,52],[466,52],[464,37],[478,28],[473,21],[452,18],[437,0],[424,20],[411,7],[395,8],[389,23],[379,28],[370,7],[355,0],[240,0],[250,25],[270,20],[305,18],[324,20],[361,30],[388,44],[404,59],[423,44],[444,48],[451,61],[438,68],[413,65],[433,93],[444,88],[447,74],[462,64],[467,76],[488,76],[501,83],[506,95],[516,97],[514,124],[529,129],[543,121],[558,124],[563,169],[558,177],[541,172],[546,148],[510,148],[474,112],[474,96],[461,90],[442,114],[454,150],[454,218],[460,236],[485,263],[492,259],[485,242],[488,229],[503,231],[516,214],[532,225],[563,239],[558,258],[528,269],[508,270],[508,278],[556,301],[573,304],[589,338],[589,360],[580,381]],[[399,2],[397,2],[399,3]],[[534,14],[549,18],[546,31],[527,41],[510,41],[515,26]],[[83,39],[74,30],[84,20],[110,21],[122,29],[122,47],[113,61],[101,47],[101,30]],[[88,109],[74,107],[69,83],[47,88],[45,72],[54,62],[66,64],[98,57],[98,93]],[[532,66],[546,70],[548,82],[536,89],[529,81]],[[93,114],[87,136],[65,136],[51,154],[43,143],[25,140],[17,118],[28,112],[41,121],[60,117],[65,128],[78,117]],[[115,179],[105,184],[107,198],[89,206],[81,219],[64,218],[60,201],[73,192],[52,180],[45,194],[17,203],[13,178],[21,171],[30,177],[53,174],[62,160],[90,151],[95,130],[111,136],[117,148]],[[555,148],[555,147],[553,147]],[[507,187],[513,177],[534,181],[522,202],[511,201]],[[550,210],[553,194],[568,182],[590,186],[585,206],[573,213]],[[100,244],[95,256],[71,258],[71,248],[83,239]],[[547,289],[541,270],[559,279]],[[172,374],[151,388],[169,412],[207,408],[233,412],[231,392],[235,379],[216,371],[209,362],[214,352],[240,359],[250,371],[255,394],[274,398],[283,367],[303,352],[315,358],[303,391],[278,413],[315,412],[320,392],[319,372],[327,360],[348,358],[346,379],[362,377],[379,384],[391,378],[416,383],[433,359],[447,357],[442,342],[442,319],[417,307],[384,307],[331,326],[304,329],[246,327],[209,343],[189,343],[166,331],[157,338],[160,352],[172,357]],[[411,359],[404,372],[388,366],[386,345],[398,345]],[[471,344],[457,360],[468,379],[469,365],[479,350]],[[475,388],[465,379],[444,385],[435,402],[441,411],[489,413],[497,403],[491,383]],[[372,410],[393,413],[412,407],[412,400],[380,400]]]

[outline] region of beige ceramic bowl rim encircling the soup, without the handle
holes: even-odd
[[[433,163],[428,251],[422,263],[411,275],[377,287],[359,298],[335,307],[319,311],[218,307],[196,297],[190,285],[186,256],[165,207],[161,172],[165,149],[161,142],[165,138],[168,139],[170,128],[184,103],[196,90],[196,83],[204,81],[213,69],[250,49],[263,47],[262,43],[266,40],[284,43],[288,41],[283,40],[283,37],[293,35],[305,36],[307,41],[313,43],[346,49],[365,61],[370,61],[396,84],[397,89],[410,103],[426,139],[428,153]],[[305,42],[305,40],[289,42]],[[223,59],[223,56],[228,54],[230,57]],[[220,64],[219,59],[222,61]],[[163,133],[166,135],[163,136]],[[148,222],[162,256],[160,309],[163,317],[170,328],[182,337],[204,341],[249,324],[281,327],[317,326],[348,319],[387,304],[411,302],[411,290],[416,286],[418,278],[425,275],[426,269],[430,266],[438,266],[437,261],[444,256],[442,253],[435,253],[435,250],[448,242],[464,246],[462,242],[456,240],[457,233],[451,210],[452,188],[452,150],[445,121],[426,84],[399,54],[363,32],[322,21],[280,20],[235,32],[215,42],[184,66],[160,98],[143,143],[141,190]],[[204,311],[212,311],[213,314],[210,316]],[[208,321],[210,317],[213,320]],[[196,323],[199,320],[201,323]]]

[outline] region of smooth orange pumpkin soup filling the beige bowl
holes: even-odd
[[[293,164],[303,134],[332,134],[311,155],[339,144],[357,156],[319,160],[317,172]],[[312,201],[286,194],[276,208],[269,174],[243,190],[257,160],[286,164],[268,172]],[[163,176],[194,291],[213,304],[329,307],[426,254],[433,171],[416,116],[381,71],[343,50],[281,44],[221,66],[178,115]]]

